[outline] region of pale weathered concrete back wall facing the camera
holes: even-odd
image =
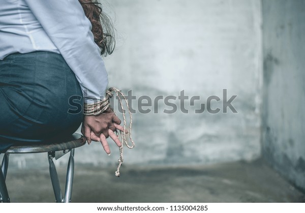
[[[104,3],[117,30],[115,52],[105,59],[109,86],[133,95],[200,96],[189,113],[161,104],[159,113],[134,116],[136,147],[125,150],[126,164],[207,164],[252,160],[260,155],[261,2],[259,0],[111,0]],[[223,89],[238,113],[196,114],[209,96]],[[173,102],[173,101],[172,101]],[[179,107],[179,101],[174,102]],[[137,108],[133,102],[133,108]],[[211,108],[222,107],[222,101]],[[154,110],[154,107],[150,107]],[[157,110],[157,108],[155,108]],[[76,150],[76,162],[111,165],[118,150],[109,140]],[[38,165],[45,155],[11,157],[21,167]]]

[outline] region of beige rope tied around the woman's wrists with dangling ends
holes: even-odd
[[[133,148],[135,146],[134,141],[132,140],[131,137],[131,126],[132,126],[132,114],[130,112],[130,108],[128,105],[128,101],[125,97],[125,95],[118,90],[115,87],[110,87],[109,89],[106,90],[106,96],[103,100],[97,102],[97,103],[93,103],[93,104],[86,104],[84,103],[84,115],[99,115],[102,112],[104,112],[106,109],[108,109],[108,107],[111,108],[111,110],[114,112],[114,114],[116,115],[115,111],[113,110],[113,108],[110,106],[110,98],[113,97],[113,93],[115,93],[115,95],[118,98],[120,107],[122,109],[122,114],[123,114],[123,121],[124,121],[124,131],[123,132],[119,132],[117,130],[115,130],[116,136],[118,137],[118,139],[121,141],[121,146],[119,147],[119,159],[118,159],[118,166],[117,166],[117,170],[115,172],[115,176],[119,177],[119,168],[123,163],[123,146],[124,143],[128,148]],[[122,100],[123,99],[123,100]],[[128,113],[130,116],[130,125],[129,125],[129,139],[132,145],[130,145],[126,139],[126,134],[125,134],[125,130],[126,130],[126,112],[123,106],[123,102],[125,101],[127,109],[128,109]]]

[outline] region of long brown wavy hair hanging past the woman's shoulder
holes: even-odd
[[[97,0],[79,0],[86,17],[92,24],[91,32],[95,43],[101,49],[101,55],[110,55],[115,47],[114,28],[110,18],[103,12]]]

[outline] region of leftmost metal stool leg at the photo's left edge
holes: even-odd
[[[1,169],[0,169],[0,202],[9,203],[9,193],[5,184],[6,174],[9,165],[9,154],[4,154]]]

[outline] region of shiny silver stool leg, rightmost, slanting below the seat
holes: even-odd
[[[65,203],[71,202],[73,176],[74,176],[74,148],[71,149],[68,168],[67,168],[65,200],[64,200]]]

